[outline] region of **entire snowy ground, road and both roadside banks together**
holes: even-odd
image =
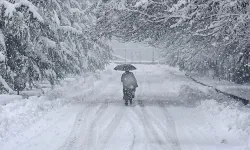
[[[136,65],[139,88],[125,107],[114,65],[0,106],[0,149],[250,149],[247,106],[175,68]]]

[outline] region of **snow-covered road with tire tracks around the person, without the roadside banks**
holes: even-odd
[[[77,102],[47,113],[5,142],[3,150],[244,149],[246,139],[229,132],[225,120],[204,109],[211,104],[201,102],[209,98],[209,89],[182,72],[138,65],[139,88],[134,104],[126,107],[121,72],[112,67],[101,72],[87,96],[81,87],[65,89],[60,96]]]

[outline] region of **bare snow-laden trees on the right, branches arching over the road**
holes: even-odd
[[[103,0],[101,36],[144,41],[186,71],[250,81],[249,0]]]

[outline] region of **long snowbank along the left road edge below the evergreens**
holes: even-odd
[[[100,84],[100,72],[86,74],[76,77],[68,82],[62,82],[54,90],[49,91],[44,96],[32,96],[22,99],[20,96],[1,95],[0,103],[0,145],[8,138],[17,136],[32,124],[37,122],[47,112],[66,107],[93,94],[95,84]],[[106,84],[106,82],[105,82]]]

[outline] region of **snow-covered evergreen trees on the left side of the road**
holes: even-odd
[[[93,0],[0,0],[0,93],[52,85],[103,69],[111,48],[98,37]],[[27,86],[28,85],[28,86]]]

